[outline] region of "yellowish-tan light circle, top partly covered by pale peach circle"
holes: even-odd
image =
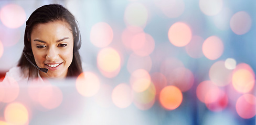
[[[138,109],[150,109],[155,103],[156,90],[153,83],[143,92],[133,91],[133,102]]]

